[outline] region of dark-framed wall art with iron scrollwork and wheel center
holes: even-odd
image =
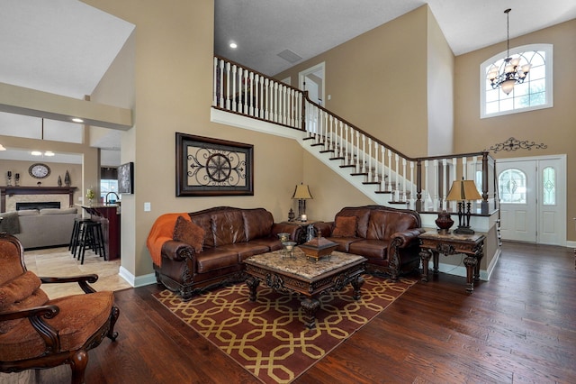
[[[176,196],[227,195],[254,195],[254,146],[176,133]]]

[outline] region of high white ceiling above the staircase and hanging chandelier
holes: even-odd
[[[215,0],[214,52],[266,75],[428,4],[455,55],[576,18],[574,0]],[[229,48],[236,42],[236,50]],[[375,48],[377,49],[377,48]],[[290,62],[284,50],[302,57]],[[292,55],[293,56],[293,55]],[[296,56],[296,58],[297,58]]]

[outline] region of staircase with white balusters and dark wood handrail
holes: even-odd
[[[214,58],[212,107],[296,130],[303,148],[376,204],[455,212],[446,195],[454,180],[464,178],[473,179],[482,195],[474,213],[488,215],[497,207],[495,161],[488,152],[410,158],[312,102],[307,92],[220,57]]]

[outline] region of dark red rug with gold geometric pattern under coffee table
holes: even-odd
[[[244,283],[184,302],[165,289],[154,297],[187,325],[265,383],[289,383],[344,342],[416,283],[364,275],[361,299],[348,285],[319,298],[316,328],[302,320],[300,297],[261,284],[257,301]]]

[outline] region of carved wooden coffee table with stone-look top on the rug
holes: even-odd
[[[348,284],[354,288],[354,299],[360,299],[364,284],[362,274],[366,259],[362,256],[333,251],[332,255],[319,261],[309,260],[300,248],[294,256],[283,251],[272,251],[252,256],[244,261],[250,289],[250,301],[256,301],[257,287],[264,281],[267,287],[279,292],[296,292],[302,299],[304,323],[308,328],[316,326],[316,311],[320,306],[317,297],[344,289]]]

